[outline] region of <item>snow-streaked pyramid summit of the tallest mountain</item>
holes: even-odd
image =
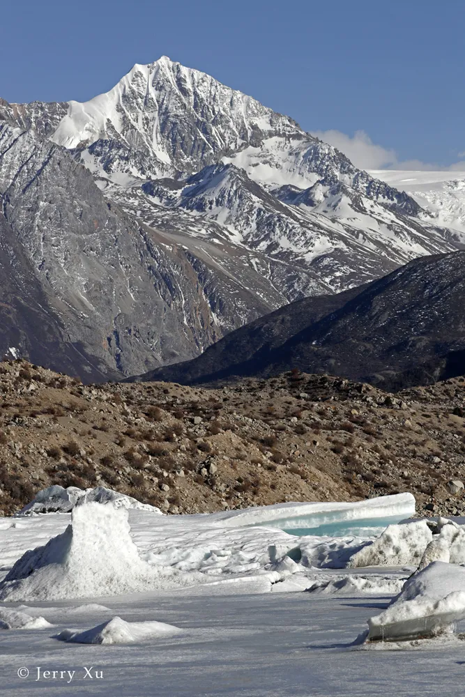
[[[81,149],[99,140],[117,140],[155,158],[158,174],[174,174],[197,171],[264,137],[289,136],[296,130],[291,118],[162,56],[133,66],[107,93],[88,102],[69,102],[52,139]]]

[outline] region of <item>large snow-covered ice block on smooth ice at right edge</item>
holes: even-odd
[[[368,620],[368,641],[411,640],[450,631],[465,618],[465,568],[435,561],[406,581],[387,610]]]

